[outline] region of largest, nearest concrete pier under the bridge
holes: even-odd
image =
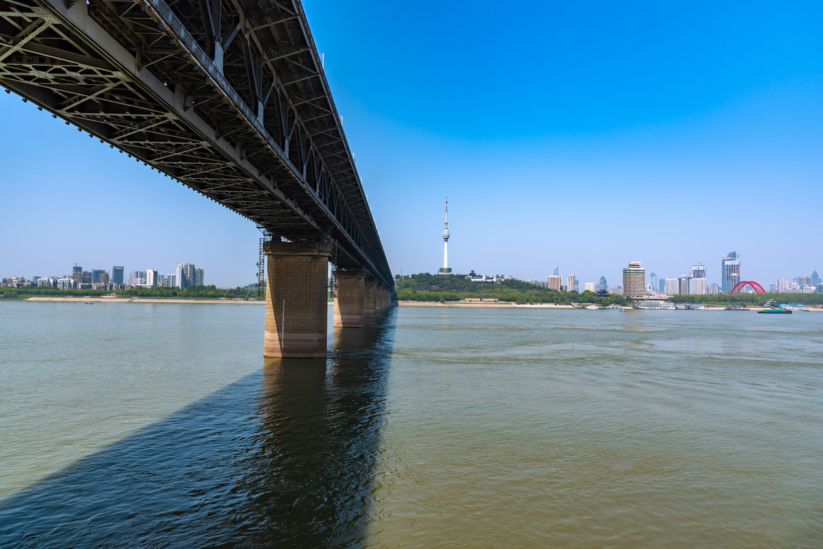
[[[324,358],[328,322],[326,242],[266,242],[264,357]]]

